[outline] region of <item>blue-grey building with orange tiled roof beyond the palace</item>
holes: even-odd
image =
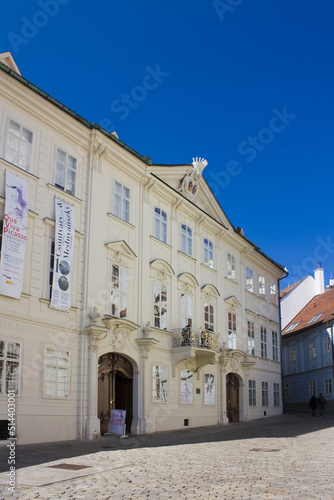
[[[327,399],[328,410],[334,409],[334,288],[324,291],[323,269],[319,267],[316,273],[319,277],[317,290],[322,292],[298,310],[282,331],[284,406],[287,410],[310,411],[310,397],[319,393]]]

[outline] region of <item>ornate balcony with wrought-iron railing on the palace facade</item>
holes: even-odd
[[[202,366],[218,360],[218,335],[209,330],[177,328],[172,330],[173,375],[176,365],[187,360],[187,367],[199,376]]]

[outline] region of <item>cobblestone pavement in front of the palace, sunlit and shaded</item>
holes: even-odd
[[[6,456],[0,448],[2,465]],[[17,447],[16,491],[5,470],[0,499],[333,500],[333,459],[333,415],[26,445]]]

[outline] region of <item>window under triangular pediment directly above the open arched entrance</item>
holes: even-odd
[[[125,267],[112,265],[111,271],[111,314],[118,318],[126,318],[128,302],[128,270]]]

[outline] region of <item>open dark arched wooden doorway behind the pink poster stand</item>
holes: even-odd
[[[108,353],[99,357],[98,416],[101,436],[108,432],[110,409],[126,410],[126,431],[132,423],[133,369],[128,359]]]

